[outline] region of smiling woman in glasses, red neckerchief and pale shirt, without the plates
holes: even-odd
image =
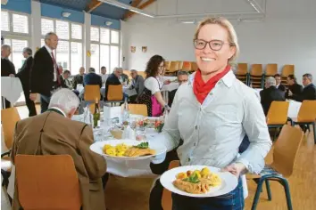
[[[237,176],[235,190],[219,197],[191,198],[172,194],[173,210],[243,209],[240,174],[259,174],[271,141],[260,101],[241,83],[229,63],[237,58],[235,29],[224,18],[202,21],[195,31],[198,70],[179,86],[162,141],[168,150],[179,145],[182,166],[214,166]],[[250,145],[238,156],[245,134]]]

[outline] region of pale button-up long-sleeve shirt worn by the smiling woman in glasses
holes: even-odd
[[[195,74],[180,85],[159,140],[178,149],[182,166],[225,167],[243,163],[250,173],[259,174],[271,141],[262,105],[254,91],[230,70],[215,85],[201,105],[193,92]],[[245,133],[250,145],[237,158]]]

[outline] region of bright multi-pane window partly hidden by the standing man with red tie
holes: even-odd
[[[58,36],[58,46],[55,50],[56,61],[64,70],[70,70],[71,75],[79,73],[83,61],[82,25],[65,20],[42,18],[42,44],[46,33],[55,31]]]

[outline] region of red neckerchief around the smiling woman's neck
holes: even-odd
[[[227,67],[222,72],[210,78],[209,81],[204,83],[202,79],[201,70],[197,69],[195,73],[195,81],[193,85],[193,92],[195,93],[195,97],[197,101],[199,101],[202,104],[207,94],[212,91],[212,88],[216,85],[216,83],[222,77],[224,77],[229,72],[229,70],[230,70],[230,66],[227,65]]]

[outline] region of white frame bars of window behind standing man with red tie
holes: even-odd
[[[58,21],[65,21],[68,23],[68,26],[69,26],[69,39],[64,39],[64,38],[60,38],[58,37],[58,41],[67,41],[68,42],[68,46],[69,46],[69,54],[68,54],[68,61],[69,61],[69,70],[72,71],[71,69],[71,43],[72,42],[75,42],[75,43],[80,43],[81,46],[82,46],[82,49],[81,49],[81,66],[84,65],[84,24],[80,23],[80,22],[74,22],[74,21],[70,21],[70,20],[62,20],[62,19],[54,19],[54,18],[49,18],[49,17],[46,17],[46,16],[41,16],[41,39],[44,39],[45,41],[45,35],[42,35],[42,19],[46,19],[46,20],[53,20],[53,27],[54,27],[54,33],[56,33],[56,20]],[[78,39],[78,38],[72,38],[71,34],[71,24],[76,24],[76,25],[80,25],[81,26],[81,39]],[[58,47],[58,46],[57,46]],[[54,54],[55,54],[55,57],[56,57],[56,61],[58,61],[58,53],[56,50],[54,50]],[[78,69],[79,70],[79,69]],[[72,76],[72,72],[71,72],[71,76]]]

